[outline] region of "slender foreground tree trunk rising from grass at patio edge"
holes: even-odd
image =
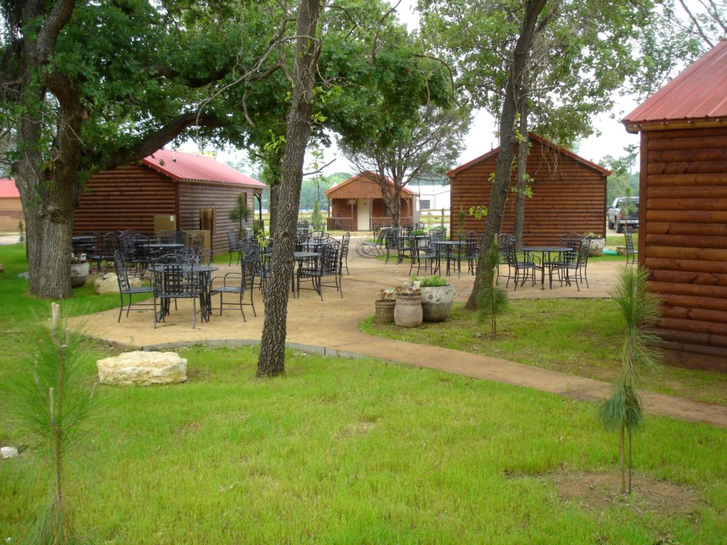
[[[265,323],[257,360],[257,376],[278,376],[285,372],[285,339],[287,329],[288,293],[293,273],[296,222],[300,185],[303,178],[305,148],[310,136],[313,112],[313,88],[321,52],[316,36],[318,0],[302,0],[296,23],[293,96],[286,148],[278,187],[278,215],[273,244],[272,275],[265,303]]]

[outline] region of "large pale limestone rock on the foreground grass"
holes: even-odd
[[[101,384],[173,384],[187,380],[187,360],[177,352],[124,352],[96,362]]]

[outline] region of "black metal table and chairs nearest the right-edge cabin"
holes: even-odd
[[[547,273],[548,287],[553,288],[553,277],[563,286],[575,284],[578,291],[580,285],[588,286],[588,254],[590,238],[578,233],[561,235],[557,246],[523,246],[515,249],[515,237],[501,233],[497,238],[499,264],[497,266],[497,282],[507,278],[505,286],[513,280],[515,289],[523,286],[528,280],[535,286],[537,274],[540,275],[540,286],[545,289]]]

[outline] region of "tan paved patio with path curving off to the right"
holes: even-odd
[[[371,339],[358,331],[358,323],[374,314],[374,300],[381,289],[391,288],[409,278],[409,265],[385,265],[376,259],[362,259],[353,251],[355,245],[356,241],[352,240],[348,264],[350,275],[343,279],[343,298],[333,288],[324,288],[324,301],[310,290],[302,291],[300,299],[289,300],[287,339],[292,346],[329,355],[366,356],[428,367],[579,400],[601,400],[611,392],[611,384],[606,382],[558,371],[393,339]],[[572,286],[553,290],[547,287],[541,290],[539,285],[523,286],[517,291],[510,286],[510,299],[607,297],[622,266],[620,262],[590,263],[590,288],[580,292]],[[227,270],[227,266],[221,267],[220,274]],[[472,291],[473,277],[463,273],[461,278],[450,280],[459,293],[457,300],[464,302]],[[226,311],[221,317],[213,316],[208,323],[198,322],[196,329],[192,329],[191,305],[187,307],[182,301],[179,310],[172,312],[166,323],[160,324],[156,330],[149,312],[132,312],[129,318],[121,318],[121,323],[116,323],[118,309],[87,315],[79,321],[88,334],[137,348],[196,342],[258,342],[262,335],[263,304],[259,293],[254,295],[257,318],[253,318],[246,307],[246,323],[242,323],[239,312]],[[727,407],[721,405],[651,392],[644,392],[643,400],[649,413],[727,427]]]

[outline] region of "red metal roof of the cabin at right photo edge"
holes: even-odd
[[[726,116],[727,39],[722,39],[621,122],[628,131],[638,132],[640,124],[719,121]]]

